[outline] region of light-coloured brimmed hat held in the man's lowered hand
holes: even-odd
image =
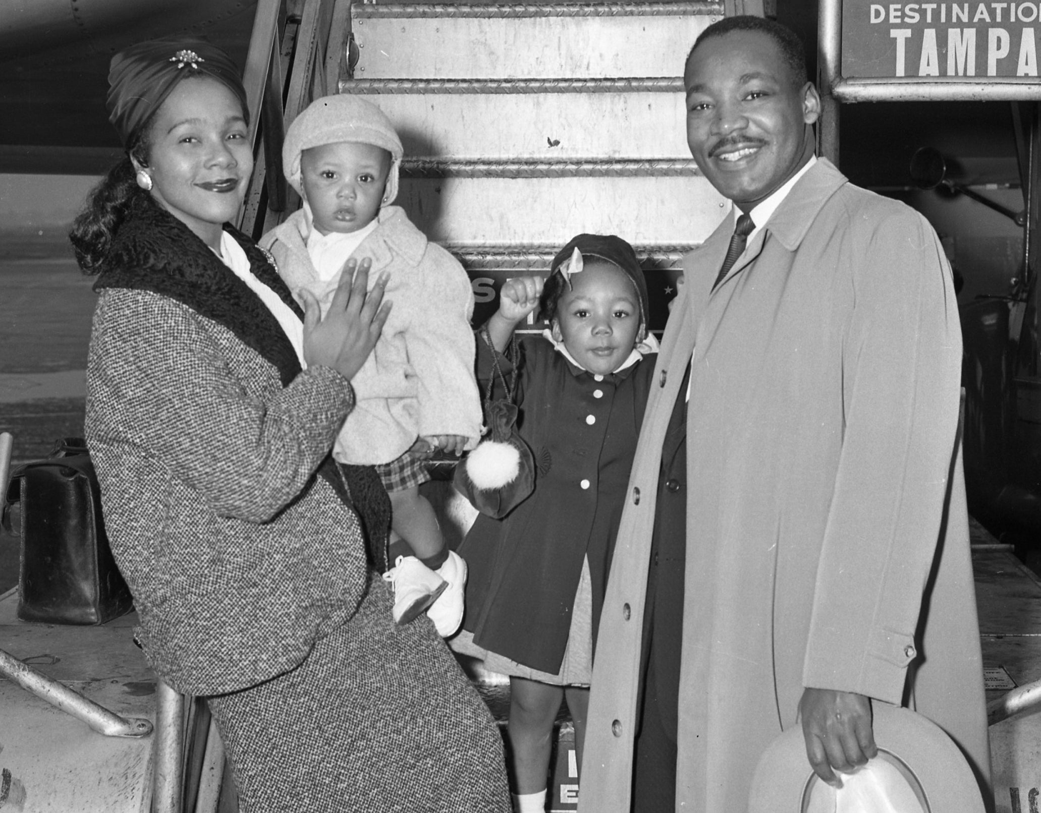
[[[879,755],[836,790],[813,772],[803,727],[763,753],[752,778],[748,813],[984,813],[983,796],[961,751],[932,720],[871,701]]]

